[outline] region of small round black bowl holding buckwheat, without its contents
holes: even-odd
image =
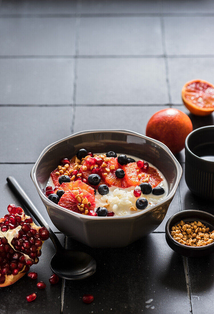
[[[214,252],[214,242],[205,246],[187,246],[174,240],[171,236],[171,230],[174,225],[177,225],[181,220],[184,222],[201,221],[202,224],[214,230],[214,216],[201,210],[189,209],[174,214],[166,223],[166,241],[171,249],[183,256],[187,257],[202,257]]]

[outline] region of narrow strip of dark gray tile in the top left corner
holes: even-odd
[[[75,14],[76,0],[2,0],[0,14]]]

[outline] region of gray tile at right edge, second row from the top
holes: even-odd
[[[164,24],[167,54],[213,54],[213,17],[165,17]]]

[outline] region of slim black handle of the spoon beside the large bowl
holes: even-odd
[[[15,193],[15,195],[18,197],[18,199],[24,204],[24,206],[29,210],[29,212],[35,217],[35,219],[39,222],[39,224],[45,228],[50,233],[51,241],[53,242],[56,249],[62,248],[62,245],[60,241],[58,240],[57,236],[55,235],[54,231],[51,229],[51,227],[48,225],[48,223],[45,221],[45,219],[42,217],[40,212],[36,209],[34,203],[31,201],[31,199],[28,197],[28,195],[24,192],[23,188],[20,186],[20,184],[16,181],[16,179],[12,176],[9,176],[7,178],[8,185],[11,188],[11,190]]]

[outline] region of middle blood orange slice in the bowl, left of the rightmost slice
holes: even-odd
[[[102,176],[105,181],[105,184],[109,186],[114,185],[115,187],[122,187],[122,188],[130,187],[125,177],[122,179],[119,179],[115,176],[115,171],[117,169],[123,169],[123,166],[119,165],[119,163],[117,162],[117,158],[110,157],[110,161],[107,161],[105,163],[107,166],[105,168],[101,167]],[[114,166],[114,169],[111,169],[112,168],[111,166]],[[106,171],[106,168],[110,171]]]

